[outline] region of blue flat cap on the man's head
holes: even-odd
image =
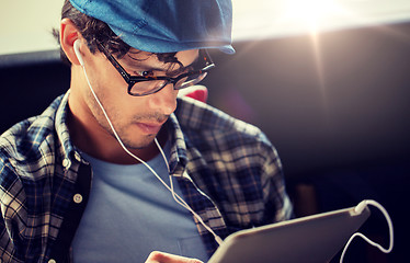
[[[231,0],[70,0],[129,46],[150,53],[231,46]]]

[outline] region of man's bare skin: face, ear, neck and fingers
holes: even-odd
[[[169,115],[175,111],[178,91],[169,84],[161,91],[146,95],[132,96],[127,93],[127,83],[102,53],[91,54],[86,39],[82,38],[75,24],[64,19],[60,23],[60,44],[67,58],[71,61],[71,83],[68,99],[68,128],[73,144],[83,152],[100,160],[119,164],[135,164],[132,158],[119,146],[113,132],[96,104],[87,82],[84,70],[73,49],[73,43],[80,41],[80,54],[84,61],[87,76],[91,87],[104,106],[115,130],[129,151],[148,161],[159,153],[153,139],[158,137],[161,145],[166,142],[167,132],[161,129]],[[136,49],[132,50],[135,52]],[[143,59],[147,67],[169,68],[156,56],[147,53],[134,53],[134,58]],[[198,50],[185,50],[176,54],[183,66],[192,64]],[[118,60],[127,72],[135,75],[136,62],[128,56]],[[162,73],[164,75],[164,73]],[[186,259],[155,251],[147,263],[200,263]]]

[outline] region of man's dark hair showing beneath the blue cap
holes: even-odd
[[[95,54],[96,50],[102,52],[99,43],[117,58],[124,57],[130,49],[130,46],[123,42],[106,23],[81,13],[72,7],[69,0],[65,0],[64,2],[61,10],[61,20],[62,19],[70,19],[72,21],[82,37],[87,41],[87,45],[92,54]],[[54,28],[53,35],[59,42],[59,30]],[[176,59],[175,54],[176,53],[151,53],[151,55],[156,55],[158,60],[162,62],[178,64],[182,66]],[[60,56],[62,61],[70,65],[62,48],[60,48]]]

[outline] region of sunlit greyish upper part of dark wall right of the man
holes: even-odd
[[[209,103],[261,127],[289,176],[406,156],[409,24],[235,47],[204,81]]]

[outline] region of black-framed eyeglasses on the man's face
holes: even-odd
[[[111,55],[102,44],[99,45],[105,57],[121,73],[125,82],[127,82],[128,94],[133,96],[144,96],[156,93],[171,83],[173,84],[174,90],[181,90],[194,85],[206,77],[209,69],[215,68],[215,64],[210,59],[208,52],[206,49],[200,49],[200,57],[197,62],[194,64],[195,66],[197,64],[202,64],[201,66],[196,66],[196,68],[201,69],[187,71],[174,78],[167,76],[132,76],[119,65],[114,56]],[[195,68],[194,65],[192,68]]]

